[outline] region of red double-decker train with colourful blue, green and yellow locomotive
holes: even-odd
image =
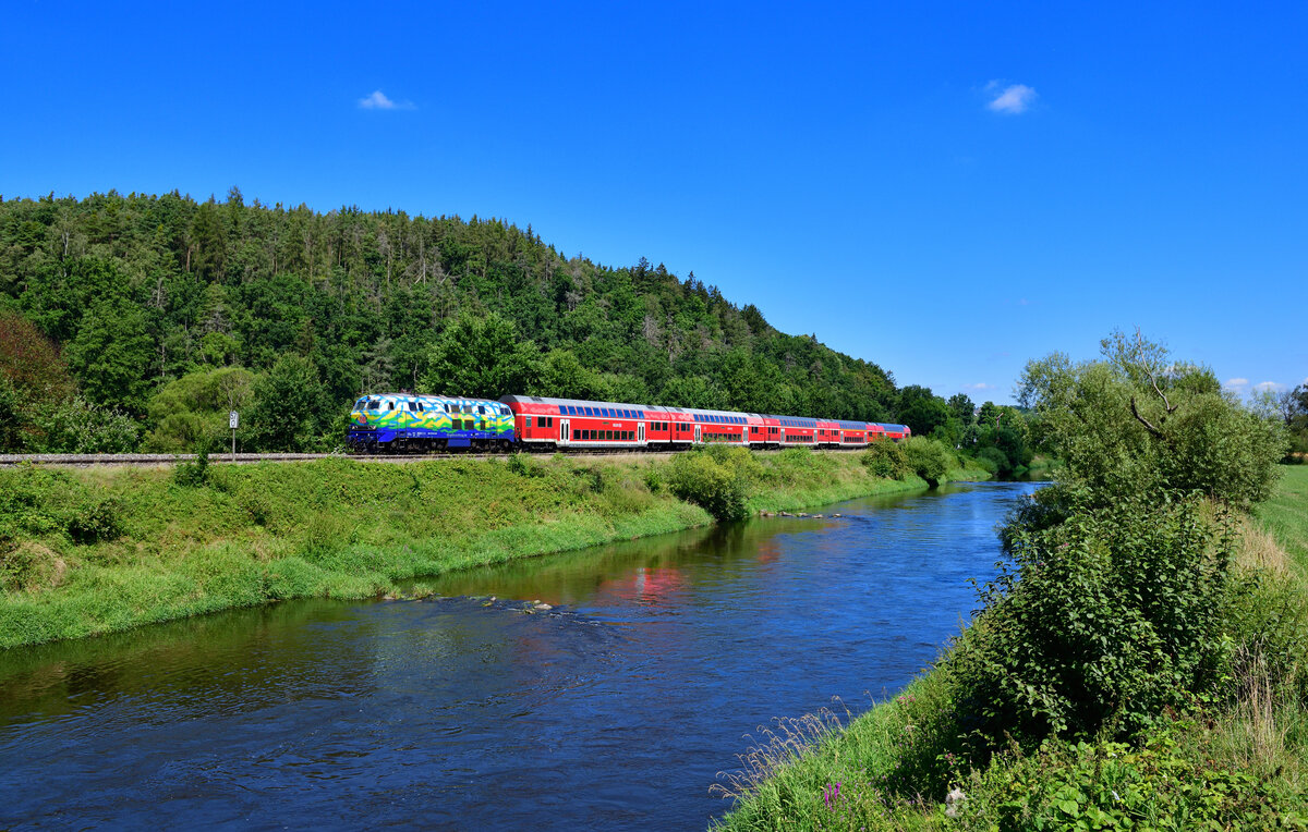
[[[866,448],[908,439],[906,424],[583,401],[545,396],[500,400],[377,393],[349,414],[357,453],[468,451],[687,451],[742,448]]]

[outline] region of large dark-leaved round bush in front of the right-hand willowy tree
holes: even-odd
[[[1226,660],[1227,551],[1194,499],[1141,498],[1045,528],[1019,512],[1012,563],[950,657],[959,714],[989,747],[1131,735]]]

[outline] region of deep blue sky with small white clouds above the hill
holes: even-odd
[[[1301,3],[181,5],[7,4],[5,199],[502,217],[977,401],[1113,328],[1308,381]]]

